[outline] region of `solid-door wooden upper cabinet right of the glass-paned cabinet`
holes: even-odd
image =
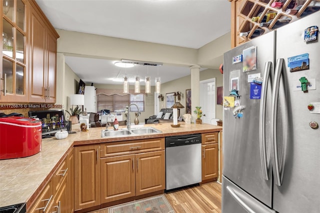
[[[36,6],[30,7],[29,18],[29,102],[54,103],[58,35],[43,20],[43,15]]]

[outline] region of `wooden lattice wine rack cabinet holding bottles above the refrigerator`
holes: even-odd
[[[280,0],[229,1],[231,1],[231,47],[240,45],[260,34],[272,31],[320,9],[320,0],[281,0],[280,8],[271,6],[272,3]],[[287,9],[295,8],[299,4],[301,4],[301,8],[298,12],[286,14]],[[260,26],[260,23],[264,22],[264,15],[267,13],[273,13],[269,23]],[[240,36],[241,32],[248,32],[248,35]]]

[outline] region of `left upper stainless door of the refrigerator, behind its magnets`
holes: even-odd
[[[232,64],[233,57],[241,55],[243,49],[256,46],[256,70],[243,72],[242,63]],[[243,190],[271,207],[271,178],[262,177],[262,161],[259,145],[260,99],[250,99],[249,74],[263,76],[266,61],[273,64],[274,32],[269,32],[224,53],[223,95],[230,94],[230,82],[237,79],[235,87],[240,95],[238,101],[244,105],[243,116],[235,118],[233,107],[223,110],[223,175]],[[232,85],[232,84],[231,84]],[[234,86],[234,85],[232,85]],[[271,98],[268,92],[267,100]],[[266,106],[268,109],[269,106]],[[269,111],[266,110],[269,115]],[[266,122],[268,125],[268,122]],[[268,126],[266,126],[268,128]],[[269,138],[266,134],[266,149]],[[265,166],[265,164],[264,164]],[[270,166],[267,168],[270,172]],[[222,182],[223,184],[223,182]],[[222,205],[227,205],[223,203]]]

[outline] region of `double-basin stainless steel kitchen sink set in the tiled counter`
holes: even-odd
[[[108,130],[103,129],[101,131],[101,137],[114,137],[114,136],[127,136],[135,134],[150,134],[150,133],[159,133],[160,130],[153,127],[139,127],[132,129],[119,129],[119,130]]]

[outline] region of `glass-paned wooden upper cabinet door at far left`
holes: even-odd
[[[25,0],[1,0],[0,102],[27,102]]]

